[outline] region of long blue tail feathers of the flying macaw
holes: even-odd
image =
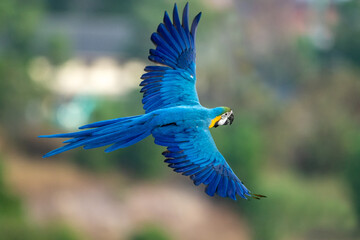
[[[150,114],[117,118],[79,127],[79,129],[91,128],[88,130],[39,136],[40,138],[71,138],[64,141],[67,145],[48,152],[43,157],[50,157],[81,146],[84,146],[84,149],[91,149],[113,144],[105,149],[105,152],[128,147],[151,134],[151,127],[146,124],[151,118]]]

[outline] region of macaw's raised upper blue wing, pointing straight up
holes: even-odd
[[[149,60],[162,66],[147,66],[141,76],[144,109],[146,113],[179,105],[199,105],[195,82],[195,35],[199,13],[188,23],[189,8],[185,5],[182,24],[175,4],[173,22],[165,12],[164,23],[151,35],[156,49],[150,49]]]

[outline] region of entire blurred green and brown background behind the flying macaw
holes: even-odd
[[[197,88],[246,186],[210,198],[149,137],[105,154],[36,136],[142,114],[169,0],[0,1],[0,239],[360,239],[360,3],[199,0]],[[182,9],[185,1],[177,1]]]

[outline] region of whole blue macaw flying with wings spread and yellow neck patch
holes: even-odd
[[[50,157],[73,148],[84,149],[111,145],[105,152],[133,145],[152,135],[155,143],[167,147],[162,154],[175,172],[190,176],[195,185],[207,185],[205,192],[214,196],[236,195],[256,199],[232,171],[216,148],[210,128],[232,124],[233,111],[228,107],[203,107],[196,93],[195,36],[201,13],[194,18],[191,28],[189,9],[185,5],[182,23],[177,6],[171,22],[167,12],[164,22],[151,35],[155,49],[150,49],[149,60],[160,65],[145,67],[140,86],[145,114],[116,118],[87,124],[72,133],[39,136],[42,138],[70,138],[67,145],[55,149]]]

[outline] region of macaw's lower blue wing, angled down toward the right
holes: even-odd
[[[209,129],[201,127],[182,128],[178,125],[159,127],[152,132],[155,143],[167,146],[163,152],[165,162],[175,172],[190,176],[195,185],[207,185],[205,192],[214,196],[230,197],[236,194],[246,199],[261,195],[251,194],[239,180],[216,148]]]

